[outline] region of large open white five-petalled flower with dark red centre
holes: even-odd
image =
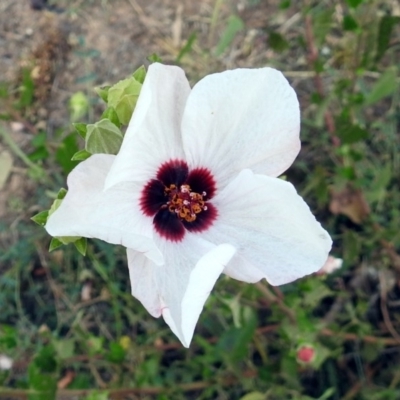
[[[127,247],[132,294],[185,346],[224,272],[273,285],[313,273],[331,248],[293,186],[276,179],[300,149],[299,105],[271,68],[212,74],[149,67],[118,155],[68,177],[53,236]]]

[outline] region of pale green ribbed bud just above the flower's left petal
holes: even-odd
[[[91,154],[117,154],[122,143],[121,131],[109,120],[89,124],[85,149]]]

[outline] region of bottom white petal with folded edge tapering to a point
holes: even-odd
[[[153,316],[165,322],[189,346],[211,289],[235,253],[233,246],[213,246],[188,233],[181,243],[160,242],[165,265],[127,250],[132,294]]]

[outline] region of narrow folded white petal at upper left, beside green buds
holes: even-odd
[[[148,181],[164,162],[183,159],[180,125],[189,93],[181,68],[150,65],[106,188]]]

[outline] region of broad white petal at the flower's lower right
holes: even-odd
[[[227,275],[282,285],[324,265],[331,238],[290,183],[244,170],[213,203],[219,217],[204,236],[237,249]]]

